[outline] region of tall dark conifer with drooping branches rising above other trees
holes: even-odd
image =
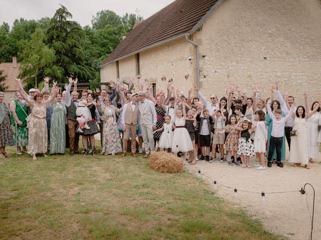
[[[72,18],[72,14],[61,5],[51,18],[47,30],[47,43],[56,53],[54,66],[63,75],[56,78],[63,80],[65,77],[75,76],[79,81],[88,81],[93,78],[95,70],[84,63],[85,51],[82,44],[85,32],[77,22],[68,18]]]

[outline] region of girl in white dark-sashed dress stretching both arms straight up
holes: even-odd
[[[188,151],[193,150],[193,143],[189,132],[185,128],[185,104],[182,102],[183,109],[177,109],[175,102],[175,130],[173,135],[172,152],[184,152],[184,160],[186,160]]]

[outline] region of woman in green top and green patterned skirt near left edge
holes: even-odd
[[[19,101],[21,101],[21,94],[17,91],[14,93],[14,99],[10,103],[10,111],[12,113],[11,124],[14,130],[13,137],[17,144],[17,154],[21,155],[21,151],[27,152],[28,129],[26,117],[28,116],[28,109],[27,106],[20,104]]]

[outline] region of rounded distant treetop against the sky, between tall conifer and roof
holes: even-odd
[[[107,24],[117,27],[121,25],[121,18],[114,11],[101,10],[96,13],[96,16],[92,16],[91,24],[95,30],[103,29]]]

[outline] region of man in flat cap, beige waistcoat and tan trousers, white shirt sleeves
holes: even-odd
[[[137,120],[138,120],[138,106],[136,105],[137,93],[132,93],[130,95],[131,101],[125,104],[122,108],[121,124],[123,130],[122,138],[122,154],[126,155],[127,151],[127,141],[129,137],[129,130],[131,131],[131,155],[137,157],[135,153],[136,149],[136,130],[137,130]]]

